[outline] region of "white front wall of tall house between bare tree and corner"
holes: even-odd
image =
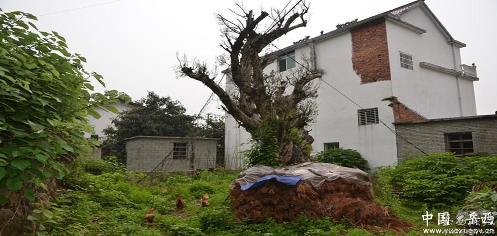
[[[325,71],[322,79],[336,87],[361,107],[378,108],[379,118],[394,128],[392,108],[383,98],[392,95],[388,80],[361,84],[352,67],[352,38],[349,32],[318,42],[317,63]],[[396,138],[382,124],[358,125],[360,108],[325,83],[320,84],[317,102],[319,115],[313,124],[315,152],[324,143],[339,142],[340,147],[357,150],[371,167],[396,161]]]

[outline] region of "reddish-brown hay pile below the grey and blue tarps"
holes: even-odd
[[[278,223],[290,222],[303,213],[315,219],[346,217],[371,231],[380,227],[405,232],[412,226],[398,220],[388,207],[371,202],[370,184],[356,184],[343,178],[325,181],[319,188],[307,180],[291,186],[271,179],[246,191],[242,191],[240,183],[234,182],[230,195],[236,218],[254,222],[265,218],[274,218]]]

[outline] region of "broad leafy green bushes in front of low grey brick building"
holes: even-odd
[[[379,174],[413,206],[445,208],[461,203],[472,186],[496,181],[495,161],[496,157],[438,153],[404,160]]]

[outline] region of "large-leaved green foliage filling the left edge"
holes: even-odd
[[[86,117],[99,117],[93,108],[116,112],[108,104],[129,97],[90,95],[91,79],[104,85],[102,77],[83,69],[86,59],[68,52],[64,37],[26,19],[36,17],[0,9],[0,189],[24,189],[34,200],[44,179],[64,177],[63,161],[98,145],[83,137],[93,131]],[[0,204],[6,200],[0,194]]]

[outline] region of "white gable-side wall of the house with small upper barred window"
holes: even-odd
[[[472,81],[459,79],[461,111],[457,77],[419,66],[420,62],[428,62],[461,71],[459,48],[454,47],[452,53],[451,44],[422,7],[403,14],[401,19],[425,29],[426,33],[419,34],[387,21],[393,95],[428,119],[476,115]],[[400,67],[399,52],[413,56],[414,70]]]

